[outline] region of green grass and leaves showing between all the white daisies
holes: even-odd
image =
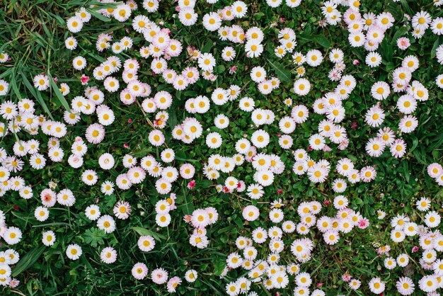
[[[209,5],[204,1],[199,1],[196,11],[200,14],[207,11],[215,11],[216,8],[230,4],[231,1],[219,1],[218,4]],[[403,271],[396,268],[394,271],[387,271],[382,267],[383,259],[376,257],[376,244],[389,244],[392,247],[391,254],[397,256],[403,251],[410,251],[413,246],[418,245],[415,238],[407,239],[401,244],[393,244],[389,239],[389,220],[398,213],[409,215],[412,220],[420,221],[414,203],[417,198],[427,196],[432,199],[432,208],[442,213],[443,192],[437,183],[427,176],[426,167],[432,162],[442,163],[443,148],[443,94],[435,85],[435,76],[441,74],[442,66],[435,59],[435,49],[443,43],[442,37],[437,38],[430,33],[419,41],[413,42],[408,50],[408,54],[417,55],[420,59],[420,68],[414,73],[414,79],[422,82],[430,90],[430,100],[419,103],[417,116],[420,125],[411,134],[403,135],[403,139],[408,144],[408,153],[403,159],[393,159],[389,152],[385,152],[380,158],[369,157],[364,152],[364,144],[370,137],[373,137],[375,130],[364,124],[364,113],[374,105],[374,99],[370,97],[370,86],[378,80],[391,79],[391,72],[401,64],[405,57],[405,52],[400,52],[395,45],[396,39],[406,33],[401,30],[401,21],[396,22],[396,27],[389,30],[386,40],[381,44],[381,53],[384,64],[371,69],[364,65],[364,53],[347,45],[347,36],[343,35],[339,27],[327,27],[325,30],[318,28],[318,21],[321,18],[320,1],[306,0],[299,8],[287,9],[280,7],[271,9],[263,1],[251,2],[250,12],[255,14],[251,18],[242,19],[243,27],[257,25],[262,28],[266,36],[265,52],[260,59],[248,59],[244,50],[237,50],[236,64],[238,71],[236,74],[228,74],[228,69],[233,63],[223,62],[219,58],[222,47],[232,45],[230,42],[221,42],[217,36],[205,31],[201,22],[196,27],[187,28],[180,25],[178,18],[173,18],[176,4],[172,1],[162,1],[158,12],[150,15],[151,20],[165,22],[166,28],[170,28],[174,38],[183,42],[183,52],[180,58],[170,62],[174,69],[183,69],[192,64],[185,58],[187,46],[194,46],[205,52],[212,52],[217,57],[216,74],[219,78],[214,83],[202,80],[185,91],[173,91],[172,87],[164,84],[163,80],[151,74],[149,62],[142,62],[140,75],[143,81],[151,86],[156,85],[155,91],[166,90],[173,93],[173,106],[168,110],[170,119],[166,127],[166,139],[168,147],[176,151],[175,166],[192,163],[197,174],[195,180],[197,186],[193,190],[186,188],[188,182],[179,179],[174,183],[173,192],[177,194],[178,209],[171,215],[173,222],[168,228],[159,229],[155,224],[154,205],[157,200],[164,198],[156,193],[154,188],[154,178],[146,178],[144,183],[131,188],[128,191],[116,190],[114,195],[105,197],[100,193],[99,186],[88,187],[81,183],[80,174],[84,169],[98,168],[98,156],[105,152],[110,152],[115,156],[117,165],[115,169],[108,172],[98,170],[100,181],[113,180],[123,171],[122,158],[125,154],[132,154],[141,159],[146,154],[152,154],[159,159],[162,148],[156,148],[149,144],[147,140],[151,127],[146,120],[152,120],[152,115],[144,115],[137,104],[124,106],[117,94],[106,93],[106,101],[115,112],[115,123],[106,127],[105,141],[93,146],[88,145],[88,154],[84,158],[84,167],[79,170],[72,169],[65,161],[63,165],[54,164],[47,161],[47,166],[42,171],[35,171],[25,166],[21,176],[26,181],[32,183],[34,197],[31,200],[23,200],[17,192],[7,193],[0,198],[0,209],[6,212],[8,224],[16,224],[23,230],[23,241],[16,249],[21,255],[21,261],[13,268],[13,275],[21,280],[21,285],[16,289],[2,290],[4,295],[12,293],[23,295],[166,295],[166,288],[163,285],[154,285],[151,280],[137,281],[130,275],[134,263],[145,262],[149,271],[156,267],[165,268],[170,276],[178,275],[183,278],[185,271],[194,268],[199,272],[197,282],[193,284],[182,283],[178,289],[180,295],[224,295],[224,285],[231,280],[235,280],[243,275],[243,271],[231,271],[224,279],[219,278],[224,267],[226,256],[236,250],[235,239],[239,235],[250,236],[253,228],[271,227],[272,223],[267,220],[267,203],[277,197],[277,189],[282,189],[279,196],[287,205],[284,207],[284,214],[287,219],[298,222],[297,206],[302,201],[318,200],[321,203],[333,200],[334,193],[330,183],[333,176],[330,175],[326,184],[316,186],[309,182],[306,176],[296,176],[291,171],[294,157],[290,151],[282,151],[276,144],[278,129],[275,125],[265,127],[270,132],[271,144],[263,152],[267,154],[279,154],[285,162],[287,169],[276,178],[275,183],[266,188],[266,195],[258,204],[262,209],[262,217],[255,222],[244,222],[241,217],[241,210],[250,204],[246,195],[229,195],[217,193],[214,186],[223,183],[224,177],[218,182],[207,181],[202,176],[202,166],[207,157],[212,153],[223,155],[234,154],[234,144],[241,139],[243,134],[251,135],[255,130],[251,127],[251,117],[246,113],[238,111],[238,106],[234,103],[226,104],[217,108],[211,108],[206,114],[195,114],[195,118],[211,131],[217,130],[213,125],[213,119],[219,113],[229,115],[231,123],[229,129],[220,132],[224,139],[224,146],[217,151],[208,149],[205,145],[205,137],[200,137],[192,145],[185,145],[171,139],[171,130],[184,118],[190,116],[185,112],[183,106],[185,100],[197,95],[207,95],[217,87],[227,88],[231,84],[243,87],[241,96],[251,96],[255,98],[258,108],[269,108],[281,118],[290,114],[291,108],[284,106],[284,98],[288,96],[294,98],[294,105],[302,103],[311,106],[316,98],[323,95],[323,91],[331,91],[335,84],[328,81],[326,74],[332,68],[329,61],[323,62],[320,67],[306,67],[306,77],[311,81],[312,91],[309,96],[297,97],[292,91],[292,84],[296,77],[294,70],[297,68],[292,64],[290,57],[277,59],[273,55],[272,45],[277,41],[277,32],[284,26],[294,28],[297,33],[297,50],[306,52],[312,48],[327,53],[332,47],[341,47],[345,52],[347,69],[345,74],[352,74],[358,81],[357,88],[352,92],[352,96],[345,103],[347,117],[343,121],[350,138],[350,146],[344,152],[333,147],[332,152],[310,152],[313,159],[328,159],[332,164],[342,157],[348,157],[355,162],[358,168],[366,165],[374,165],[377,170],[376,181],[372,183],[358,183],[349,186],[346,191],[350,199],[350,207],[368,217],[371,226],[365,230],[353,230],[351,234],[344,235],[340,243],[335,246],[326,246],[323,243],[317,230],[313,230],[310,237],[316,244],[313,252],[313,259],[302,265],[302,270],[311,273],[313,283],[323,283],[322,288],[328,291],[328,295],[355,295],[347,288],[347,284],[341,280],[341,275],[348,271],[363,282],[362,288],[357,291],[357,295],[369,295],[367,282],[375,276],[387,281],[386,295],[393,295],[396,291],[396,278],[403,275]],[[125,26],[130,23],[117,23],[116,21],[103,22],[93,18],[81,33],[76,34],[79,40],[79,48],[75,52],[70,52],[64,47],[64,40],[71,35],[65,26],[65,21],[74,14],[76,8],[96,4],[95,1],[3,1],[0,6],[0,52],[5,51],[11,56],[11,62],[0,64],[0,79],[10,83],[10,90],[5,98],[11,101],[18,101],[21,98],[33,98],[38,102],[38,113],[47,118],[62,121],[62,115],[67,104],[74,96],[81,95],[84,87],[80,84],[81,73],[74,72],[71,67],[71,60],[76,55],[82,55],[88,59],[86,72],[93,81],[92,69],[96,67],[103,57],[95,50],[95,40],[100,33],[113,32],[116,38],[127,35]],[[379,13],[390,11],[397,20],[403,17],[403,13],[420,11],[421,4],[415,2],[401,1],[392,3],[391,1],[372,1],[362,4],[364,9]],[[139,4],[141,7],[141,4]],[[442,14],[434,6],[426,6],[432,16]],[[251,16],[248,14],[248,16]],[[284,23],[279,23],[279,19],[284,18]],[[201,18],[200,18],[201,19]],[[131,30],[130,36],[135,34]],[[138,36],[138,35],[137,35]],[[134,38],[135,47],[143,44],[142,38]],[[123,52],[119,57],[126,59],[137,56],[138,52]],[[360,64],[352,66],[353,59],[360,59]],[[263,65],[267,72],[278,76],[282,80],[282,86],[277,91],[273,91],[269,96],[258,93],[255,83],[251,83],[249,71],[252,67]],[[52,91],[40,92],[33,87],[33,76],[40,73],[50,74],[57,78],[57,84],[66,82],[71,86],[71,93],[66,101],[60,96],[58,89],[52,85]],[[100,84],[98,84],[100,85]],[[386,111],[386,125],[395,127],[401,116],[393,107],[396,98],[391,96],[389,100],[381,103]],[[395,99],[394,99],[395,98]],[[212,105],[214,106],[214,105]],[[62,147],[68,154],[71,143],[76,136],[84,137],[84,130],[91,123],[96,123],[93,116],[81,115],[81,122],[69,128],[67,137],[62,140]],[[294,132],[294,149],[306,148],[309,136],[316,130],[317,124],[323,119],[322,115],[311,114],[309,120],[297,126]],[[129,123],[128,120],[132,120]],[[357,123],[357,129],[352,130],[352,123]],[[217,130],[218,131],[218,130]],[[204,135],[207,135],[205,130]],[[32,137],[24,132],[17,135],[8,135],[1,138],[0,147],[6,147],[11,151],[11,147],[16,139],[30,140]],[[38,139],[45,147],[48,137],[40,132]],[[129,149],[124,144],[129,144]],[[42,149],[46,152],[46,147]],[[65,155],[66,155],[65,154]],[[242,179],[246,184],[252,183],[253,171],[251,164],[243,165],[236,169],[234,176]],[[43,188],[47,188],[49,181],[58,183],[59,188],[69,188],[76,195],[76,204],[71,207],[53,207],[50,210],[50,218],[46,222],[38,222],[33,217],[35,207],[40,205],[40,198],[37,193]],[[384,193],[384,197],[381,196]],[[248,201],[245,201],[246,200]],[[133,207],[130,220],[117,220],[117,230],[113,234],[103,234],[96,231],[96,224],[86,219],[84,209],[91,203],[98,204],[103,213],[112,215],[113,205],[118,200],[127,200]],[[18,206],[18,210],[14,206]],[[217,224],[208,229],[208,236],[211,241],[209,247],[199,250],[190,246],[188,240],[192,234],[192,227],[183,222],[183,215],[192,213],[198,207],[216,207],[220,218]],[[376,210],[383,209],[387,216],[383,221],[376,219]],[[332,206],[326,207],[322,215],[335,215],[336,210]],[[57,235],[57,242],[50,248],[41,244],[41,232],[52,229]],[[137,248],[137,239],[140,232],[156,232],[156,248],[148,254],[143,254]],[[439,227],[442,230],[442,227]],[[292,241],[299,238],[292,234],[285,237],[284,244],[289,247]],[[78,261],[67,259],[64,251],[68,244],[77,243],[83,248],[84,255]],[[108,266],[100,263],[100,251],[105,246],[113,246],[117,250],[117,262]],[[0,246],[0,251],[8,249],[6,244]],[[267,255],[269,250],[266,246],[258,248],[260,255]],[[410,254],[418,263],[420,252]],[[285,249],[282,255],[282,263],[294,261],[294,256]],[[414,274],[411,278],[417,280],[421,278],[425,271],[418,264],[413,264]],[[294,288],[291,280],[289,288]],[[260,286],[254,286],[254,290],[259,295],[270,295]],[[422,295],[417,291],[417,295]],[[280,295],[289,295],[292,290],[280,290]],[[271,293],[272,295],[274,292]]]

